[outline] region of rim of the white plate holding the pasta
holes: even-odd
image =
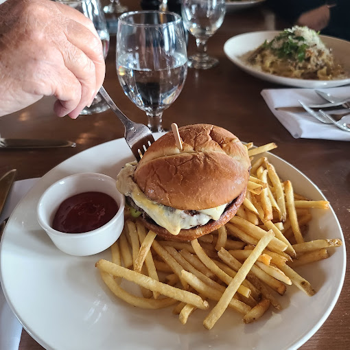
[[[244,38],[244,36],[257,36],[257,35],[264,35],[266,38],[270,38],[270,36],[276,36],[281,31],[277,30],[261,30],[257,32],[248,32],[243,34],[238,34],[235,36],[232,36],[226,42],[224,43],[224,53],[231,62],[233,62],[237,67],[242,69],[243,71],[246,71],[246,73],[253,75],[257,78],[260,78],[262,80],[266,80],[269,82],[274,82],[277,84],[283,84],[288,86],[296,86],[301,88],[327,88],[327,87],[336,87],[336,86],[343,86],[350,84],[350,78],[345,79],[334,79],[334,80],[303,80],[303,79],[297,79],[297,78],[287,78],[287,77],[281,77],[279,75],[273,75],[270,73],[266,73],[264,71],[259,71],[257,69],[254,69],[253,67],[250,67],[249,65],[244,64],[240,58],[238,58],[235,54],[231,53],[230,47],[235,42],[235,40]],[[327,35],[320,35],[320,38],[326,38],[326,40],[334,40],[339,41],[341,43],[345,43],[346,45],[350,46],[350,42],[347,40],[342,40],[340,38],[335,38],[334,36],[327,36]],[[263,43],[262,41],[261,43]],[[250,50],[248,50],[250,51]],[[247,51],[246,51],[247,52]],[[350,72],[349,72],[350,73]]]

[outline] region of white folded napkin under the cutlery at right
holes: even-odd
[[[323,91],[340,98],[350,97],[350,86],[324,89]],[[307,112],[292,113],[285,110],[275,110],[277,107],[301,106],[298,100],[305,102],[305,104],[327,103],[317,95],[314,89],[266,89],[261,91],[261,95],[275,117],[295,139],[350,141],[350,132],[343,131],[332,124],[321,123]],[[340,111],[335,113],[340,113]],[[345,118],[350,124],[350,115]]]

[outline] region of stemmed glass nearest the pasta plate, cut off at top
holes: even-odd
[[[183,0],[183,24],[196,38],[197,53],[189,57],[189,67],[208,69],[219,60],[208,56],[207,40],[220,28],[226,12],[225,0]]]

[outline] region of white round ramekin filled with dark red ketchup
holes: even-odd
[[[74,174],[41,196],[37,218],[57,248],[70,255],[93,255],[110,247],[124,226],[125,199],[104,174]]]

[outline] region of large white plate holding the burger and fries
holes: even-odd
[[[324,199],[308,178],[272,154],[270,161],[297,192]],[[73,257],[58,250],[36,222],[36,204],[56,180],[78,172],[115,177],[132,156],[124,139],[76,154],[41,178],[14,210],[0,246],[1,283],[10,307],[25,329],[48,350],[115,349],[297,349],[333,309],[345,276],[345,246],[329,249],[331,257],[300,268],[317,293],[306,296],[288,288],[283,310],[270,310],[250,325],[227,310],[211,331],[202,326],[206,312],[196,311],[183,326],[172,309],[140,310],[119,299],[102,283],[91,257]],[[338,237],[342,230],[332,209],[315,211],[308,239]],[[343,240],[344,242],[344,240]]]

